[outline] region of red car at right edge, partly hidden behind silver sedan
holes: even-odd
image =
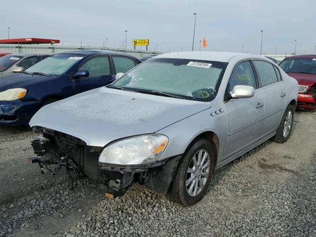
[[[279,66],[298,81],[297,107],[316,109],[316,55],[290,56]]]

